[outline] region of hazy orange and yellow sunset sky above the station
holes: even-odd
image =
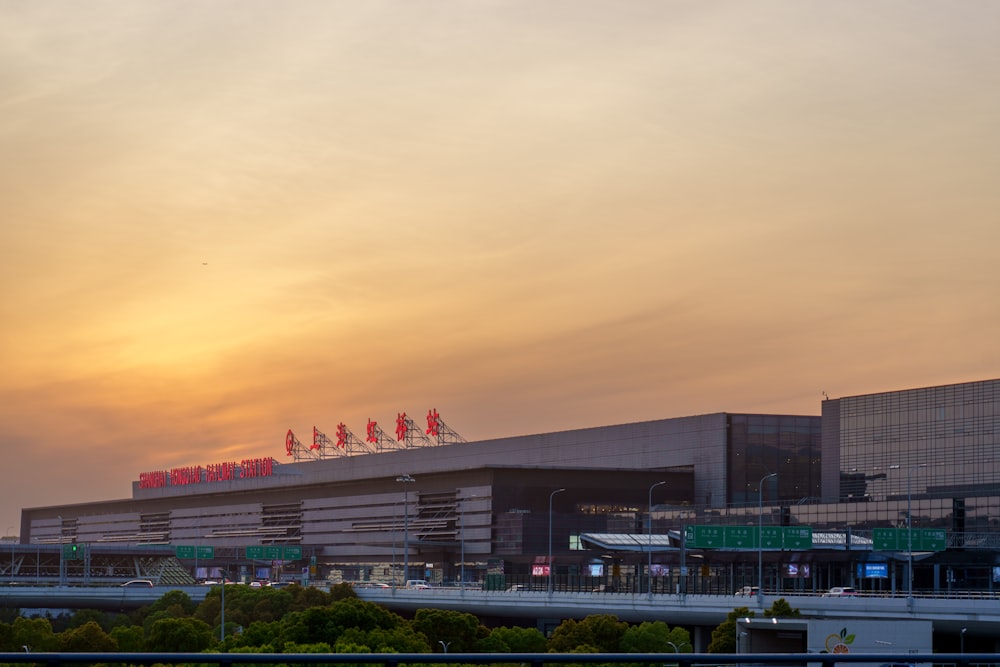
[[[0,534],[289,428],[1000,377],[998,35],[951,0],[0,0]]]

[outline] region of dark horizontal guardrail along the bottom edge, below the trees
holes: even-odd
[[[127,664],[127,665],[492,665],[532,667],[564,664],[717,667],[721,665],[891,665],[892,667],[995,667],[995,653],[0,653],[0,664]]]

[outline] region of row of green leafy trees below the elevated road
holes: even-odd
[[[82,610],[50,618],[0,621],[0,652],[244,653],[689,653],[688,631],[660,621],[630,625],[612,615],[563,621],[550,637],[535,628],[487,628],[472,614],[421,609],[412,619],[359,599],[347,585],[315,588],[221,587],[200,604],[171,591],[130,614]],[[767,614],[786,615],[779,600]],[[776,608],[778,608],[776,610]],[[797,612],[796,612],[797,613]],[[738,609],[726,623],[752,615]],[[710,650],[727,652],[724,623]],[[718,642],[716,642],[718,634]],[[734,632],[730,629],[728,637]],[[223,639],[224,637],[224,639]],[[734,641],[734,640],[733,640]]]

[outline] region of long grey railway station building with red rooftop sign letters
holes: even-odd
[[[196,577],[509,586],[551,572],[560,586],[729,594],[760,575],[779,591],[1000,585],[1000,380],[828,398],[819,416],[478,442],[436,411],[426,428],[401,414],[396,438],[374,422],[364,439],[343,425],[308,445],[289,432],[280,458],[144,472],[131,498],[24,509],[20,548],[159,545]]]

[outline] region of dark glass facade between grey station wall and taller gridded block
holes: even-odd
[[[728,415],[730,505],[803,502],[820,495],[819,417]],[[777,473],[776,477],[764,479]],[[763,499],[761,498],[761,480]]]

